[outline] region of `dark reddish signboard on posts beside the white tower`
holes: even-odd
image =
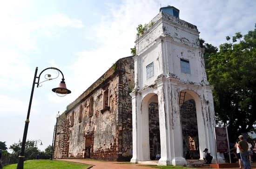
[[[226,127],[214,127],[216,135],[217,152],[229,152]]]

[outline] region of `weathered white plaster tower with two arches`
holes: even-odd
[[[132,163],[149,159],[148,105],[158,103],[161,158],[158,165],[186,165],[183,155],[180,92],[185,101],[195,100],[200,159],[208,148],[215,155],[212,124],[215,125],[212,87],[207,81],[199,31],[168,13],[160,12],[154,23],[135,41],[135,89],[132,96]],[[190,74],[182,73],[181,59],[189,61]],[[146,67],[154,66],[147,78]],[[215,159],[215,156],[214,156]]]

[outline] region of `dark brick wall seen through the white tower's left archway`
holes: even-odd
[[[149,154],[150,160],[158,160],[161,154],[158,103],[148,106]]]

